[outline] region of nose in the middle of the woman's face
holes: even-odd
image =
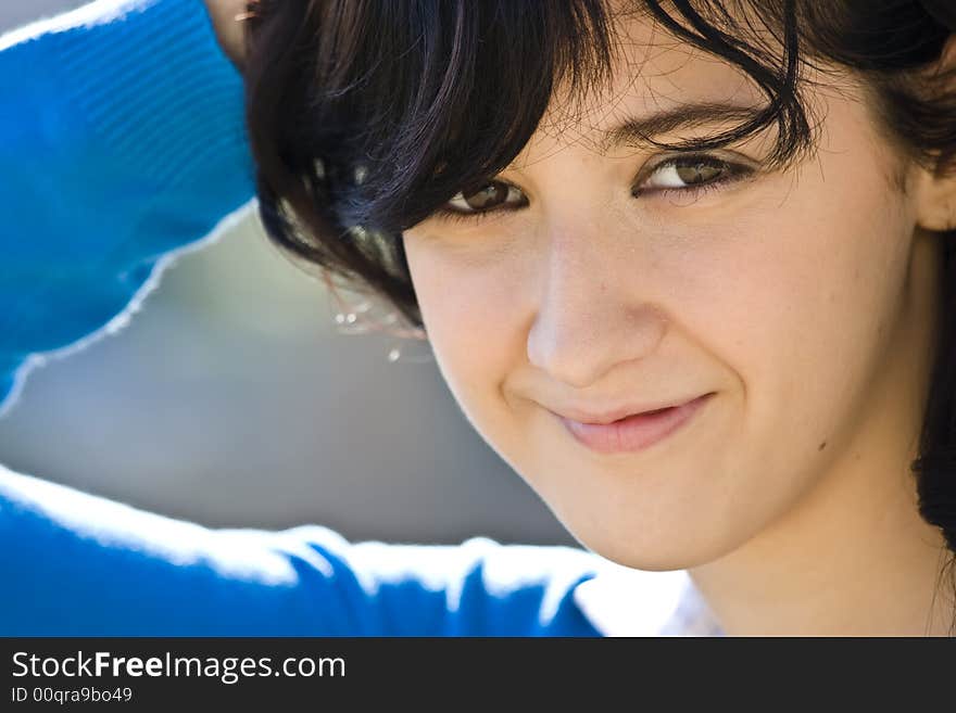
[[[580,228],[580,226],[579,226]],[[641,290],[647,266],[621,255],[620,235],[604,229],[552,231],[539,282],[539,307],[528,332],[529,361],[555,380],[583,389],[617,365],[652,354],[666,332],[658,304]]]

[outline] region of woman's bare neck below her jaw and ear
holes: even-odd
[[[894,339],[859,426],[803,500],[690,574],[728,635],[946,635],[954,602],[942,533],[917,510],[916,457],[938,295],[931,241],[914,252]],[[916,366],[915,366],[916,365]]]

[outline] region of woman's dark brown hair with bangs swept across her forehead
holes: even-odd
[[[863,79],[902,155],[956,169],[956,31],[947,0],[633,0],[675,37],[739,67],[766,105],[674,150],[776,128],[770,157],[815,145],[804,69]],[[607,80],[603,0],[260,0],[249,23],[248,119],[272,240],[422,326],[402,231],[520,152],[555,88]],[[620,10],[620,9],[618,9]],[[770,38],[772,41],[767,41]],[[946,235],[938,354],[913,463],[920,513],[956,551],[956,264]],[[952,564],[952,561],[951,561]]]

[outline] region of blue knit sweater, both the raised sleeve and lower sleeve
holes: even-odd
[[[201,1],[100,1],[0,37],[0,175],[9,405],[30,355],[108,330],[252,198],[241,81]],[[487,539],[216,531],[0,467],[0,635],[590,636],[574,595],[600,566]]]

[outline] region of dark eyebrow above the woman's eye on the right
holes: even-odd
[[[647,116],[629,118],[613,129],[603,131],[598,144],[602,153],[621,145],[647,143],[656,136],[701,126],[713,126],[735,122],[753,120],[764,110],[759,106],[744,106],[721,102],[699,102],[681,104],[662,110]]]

